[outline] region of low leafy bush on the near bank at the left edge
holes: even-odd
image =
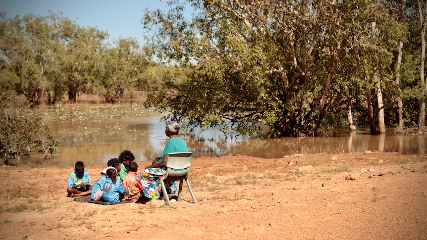
[[[20,104],[0,103],[0,158],[5,164],[10,159],[29,156],[34,150],[53,153],[59,145],[52,131],[40,116]]]

